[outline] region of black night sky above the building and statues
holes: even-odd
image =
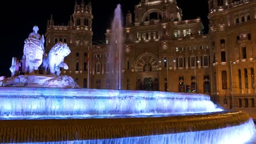
[[[82,0],[78,0],[78,3]],[[84,0],[88,2],[89,0]],[[91,0],[92,40],[103,40],[106,28],[110,26],[113,13],[117,4],[121,4],[123,14],[128,10],[133,12],[135,4],[140,0]],[[9,67],[11,58],[21,59],[23,55],[24,40],[32,32],[34,25],[39,27],[39,34],[46,31],[46,23],[53,15],[54,25],[67,25],[69,16],[74,12],[74,0],[43,0],[43,1],[8,1],[1,2],[1,53],[0,53],[0,76],[10,76]],[[203,26],[208,32],[208,1],[207,0],[177,0],[177,5],[182,8],[183,20],[196,19],[200,16]],[[3,10],[3,7],[6,7]],[[134,16],[133,16],[134,17]]]

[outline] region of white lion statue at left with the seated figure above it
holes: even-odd
[[[28,38],[24,41],[24,57],[26,59],[25,74],[38,73],[38,67],[43,62],[44,55],[44,36],[41,37],[37,33],[38,26],[33,27],[33,32],[28,35]]]

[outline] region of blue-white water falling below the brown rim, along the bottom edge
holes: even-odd
[[[252,121],[235,127],[223,129],[193,131],[188,133],[151,135],[139,137],[124,137],[120,139],[104,139],[104,140],[85,140],[85,141],[61,141],[61,142],[44,142],[44,143],[175,143],[175,144],[222,144],[222,143],[256,143],[255,128],[252,127]]]

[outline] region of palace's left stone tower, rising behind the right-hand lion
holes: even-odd
[[[92,7],[82,0],[75,0],[74,13],[70,16],[68,25],[54,25],[53,16],[48,21],[46,30],[46,52],[49,52],[54,44],[61,41],[67,43],[71,53],[65,58],[68,70],[62,70],[61,74],[72,76],[80,87],[88,87],[88,60],[89,49],[92,45]]]

